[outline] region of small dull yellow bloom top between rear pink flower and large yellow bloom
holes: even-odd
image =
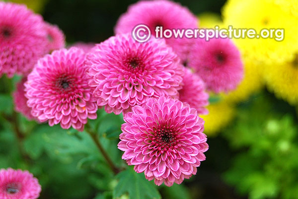
[[[200,28],[214,28],[216,25],[223,27],[221,16],[212,12],[204,12],[199,16]]]

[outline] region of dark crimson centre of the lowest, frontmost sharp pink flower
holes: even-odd
[[[161,153],[168,149],[173,149],[178,144],[178,134],[175,129],[160,125],[153,131],[151,145]]]

